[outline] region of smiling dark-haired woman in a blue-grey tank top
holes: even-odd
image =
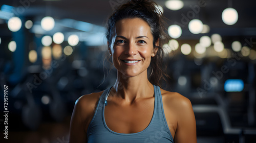
[[[158,12],[153,2],[132,0],[109,18],[106,38],[117,79],[76,101],[71,143],[197,142],[190,101],[159,87],[164,28]]]

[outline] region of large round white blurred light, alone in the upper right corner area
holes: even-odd
[[[238,12],[233,8],[226,8],[223,10],[221,17],[226,25],[234,25],[238,21]]]

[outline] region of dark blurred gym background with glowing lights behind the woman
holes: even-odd
[[[1,0],[1,142],[68,142],[76,99],[115,82],[104,27],[124,2]],[[190,99],[198,142],[256,142],[256,1],[155,2],[172,39],[164,87]]]

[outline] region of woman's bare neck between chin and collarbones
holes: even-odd
[[[117,80],[113,87],[113,94],[128,103],[139,98],[152,97],[154,94],[154,86],[148,81],[146,70],[135,77],[126,77],[117,71]]]

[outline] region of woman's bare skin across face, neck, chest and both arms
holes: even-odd
[[[109,52],[117,69],[117,80],[105,106],[105,122],[114,132],[140,132],[150,124],[154,111],[154,86],[147,79],[147,67],[157,52],[153,35],[144,20],[126,18],[116,22],[112,43]],[[139,62],[129,65],[123,60]],[[76,101],[70,143],[87,142],[87,129],[102,92],[84,95]],[[175,142],[197,142],[190,101],[176,92],[161,89],[161,94],[165,118]]]

